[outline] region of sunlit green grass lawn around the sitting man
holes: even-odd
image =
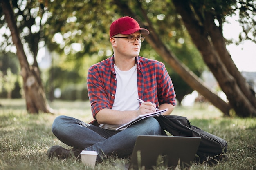
[[[68,115],[85,122],[92,120],[89,102],[50,103],[55,115],[28,114],[25,101],[0,100],[0,170],[90,170],[76,158],[50,160],[48,148],[61,143],[51,132],[54,118]],[[193,107],[176,107],[173,115],[186,116],[191,124],[224,138],[228,142],[227,161],[215,166],[193,164],[191,170],[256,170],[256,119],[224,118],[209,104]],[[128,159],[110,157],[97,163],[95,170],[121,170]],[[116,166],[120,165],[120,166]],[[173,168],[180,170],[179,168]],[[157,167],[155,170],[166,170]]]

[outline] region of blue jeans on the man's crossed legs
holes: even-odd
[[[132,153],[138,135],[161,135],[156,119],[148,117],[122,131],[103,129],[68,116],[58,116],[52,124],[53,134],[63,143],[81,150],[98,152],[97,161],[117,154]]]

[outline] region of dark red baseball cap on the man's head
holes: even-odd
[[[132,33],[135,33],[137,31],[140,31],[141,34],[149,34],[149,31],[144,28],[140,28],[138,22],[131,18],[131,17],[121,17],[117,20],[115,20],[110,25],[110,37],[113,37],[114,35],[117,35],[119,33],[124,35],[129,35]]]

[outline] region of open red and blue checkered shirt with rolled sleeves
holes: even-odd
[[[158,107],[163,103],[176,105],[176,95],[168,72],[162,62],[136,57],[139,98]],[[114,56],[92,65],[87,76],[88,95],[92,115],[103,108],[111,109],[117,88]]]

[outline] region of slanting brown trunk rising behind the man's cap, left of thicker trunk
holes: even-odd
[[[150,35],[146,35],[146,41],[157,51],[157,53],[168,63],[181,77],[182,79],[189,84],[189,86],[204,97],[206,97],[209,102],[211,102],[216,108],[220,109],[224,115],[229,115],[229,110],[231,107],[225,101],[223,101],[218,95],[213,93],[210,88],[207,87],[204,82],[197,77],[192,71],[189,70],[184,64],[182,64],[175,55],[167,49],[163,42],[159,39],[156,31],[153,29],[152,24],[147,20],[147,25],[145,25],[139,18],[136,17],[134,13],[131,12],[129,7],[126,4],[121,3],[119,0],[115,0],[115,4],[122,9],[125,15],[129,15],[139,22],[141,27],[148,28],[150,30]],[[141,8],[143,11],[143,9]],[[143,11],[144,12],[144,11]],[[144,12],[144,17],[147,18],[146,13]]]

